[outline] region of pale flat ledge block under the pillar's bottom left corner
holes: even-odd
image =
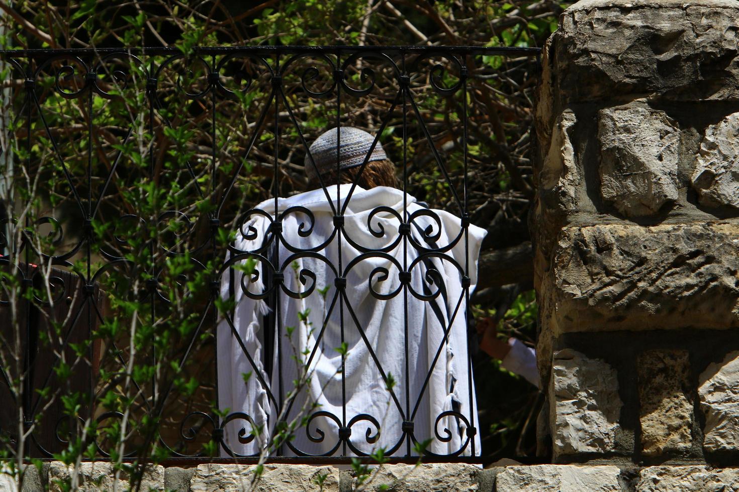
[[[496,477],[497,492],[621,492],[616,466],[508,466]]]

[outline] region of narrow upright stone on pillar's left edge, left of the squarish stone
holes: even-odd
[[[575,123],[575,114],[570,110],[559,116],[539,175],[540,193],[548,206],[570,212],[576,210],[578,189],[582,183],[570,136]]]

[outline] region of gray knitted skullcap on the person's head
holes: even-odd
[[[328,173],[336,169],[337,134],[336,128],[331,128],[329,131],[321,134],[316,139],[316,142],[310,145],[310,155],[313,156],[313,162],[316,162],[319,174]],[[342,126],[341,133],[338,134],[338,139],[341,139],[341,148],[338,154],[339,167],[341,169],[360,166],[364,162],[364,158],[367,157],[369,148],[372,147],[372,142],[375,141],[374,136],[353,126]],[[387,156],[378,141],[367,162],[381,161],[383,159],[387,159]],[[313,180],[316,178],[316,167],[313,167],[306,154],[305,174],[308,176],[308,179]]]

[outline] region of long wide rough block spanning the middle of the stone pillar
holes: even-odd
[[[542,336],[739,326],[739,226],[567,227],[542,281]]]

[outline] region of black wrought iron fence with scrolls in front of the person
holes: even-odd
[[[40,457],[474,460],[470,65],[535,55],[3,52],[5,437]],[[369,150],[350,172],[337,149],[310,191],[311,142],[348,126]],[[360,186],[378,146],[397,187]]]

